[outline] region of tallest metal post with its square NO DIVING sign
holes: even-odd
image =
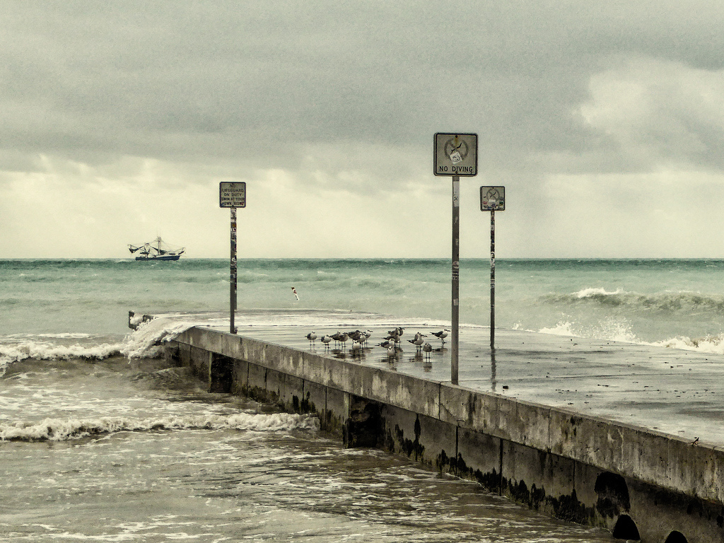
[[[435,175],[452,176],[452,301],[450,304],[450,381],[458,384],[460,339],[460,177],[478,174],[478,135],[443,134],[434,138]]]

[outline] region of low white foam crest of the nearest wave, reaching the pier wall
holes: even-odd
[[[188,429],[232,429],[253,432],[284,432],[295,429],[317,431],[319,419],[290,413],[269,415],[236,413],[227,416],[206,414],[160,418],[100,417],[85,420],[46,418],[38,423],[0,424],[0,440],[64,441],[113,432]]]

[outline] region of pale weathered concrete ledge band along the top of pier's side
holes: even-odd
[[[691,445],[678,437],[638,426],[418,379],[214,329],[190,328],[174,341],[675,492],[724,503],[724,452],[706,442]]]

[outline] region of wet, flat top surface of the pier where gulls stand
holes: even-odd
[[[238,334],[450,382],[450,337],[442,345],[432,336],[442,329],[439,321],[335,311],[263,315],[239,313]],[[300,318],[310,324],[299,324]],[[179,313],[176,319],[229,329],[228,316],[224,321],[220,313]],[[405,330],[400,348],[388,356],[379,343],[394,327]],[[314,344],[306,339],[311,331],[321,337],[355,329],[372,332],[359,354],[353,354],[351,340],[325,348],[319,339]],[[408,342],[416,332],[427,334],[431,353],[418,353]],[[462,387],[724,446],[724,355],[505,329],[496,329],[493,351],[489,328],[463,326],[458,358]]]

